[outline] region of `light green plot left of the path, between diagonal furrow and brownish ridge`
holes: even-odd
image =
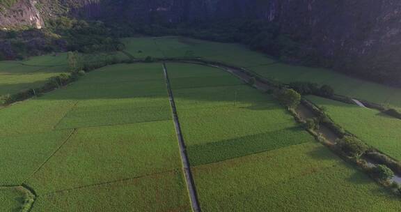
[[[172,169],[180,156],[171,121],[82,128],[28,183],[43,194]]]

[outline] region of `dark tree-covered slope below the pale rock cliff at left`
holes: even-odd
[[[1,5],[0,5],[1,9]],[[103,22],[58,17],[44,29],[0,29],[0,61],[26,59],[28,56],[78,51],[104,53],[124,46]]]

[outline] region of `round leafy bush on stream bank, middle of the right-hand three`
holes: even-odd
[[[353,158],[361,157],[369,149],[368,145],[352,136],[345,136],[343,139],[339,139],[337,143],[341,150]]]

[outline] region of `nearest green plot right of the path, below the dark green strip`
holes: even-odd
[[[203,211],[401,209],[398,197],[315,142],[201,165],[194,176]]]

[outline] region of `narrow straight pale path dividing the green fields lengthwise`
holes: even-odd
[[[164,78],[166,79],[168,99],[170,100],[171,109],[173,110],[173,121],[175,125],[175,132],[177,132],[178,144],[180,146],[182,169],[184,169],[185,180],[187,181],[189,198],[191,199],[192,210],[194,212],[198,212],[201,211],[201,208],[199,207],[198,196],[196,195],[195,183],[191,174],[191,167],[189,165],[187,151],[184,143],[184,137],[182,137],[180,121],[178,120],[177,108],[175,107],[175,102],[174,102],[173,91],[171,90],[170,79],[168,79],[166,63],[163,63],[163,70],[164,70]]]

